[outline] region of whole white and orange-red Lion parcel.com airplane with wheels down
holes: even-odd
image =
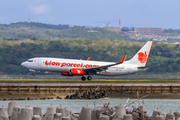
[[[91,75],[120,76],[146,71],[153,41],[148,41],[130,60],[125,55],[119,62],[36,57],[21,63],[30,71],[60,72],[62,76],[82,76],[81,80],[91,80]]]

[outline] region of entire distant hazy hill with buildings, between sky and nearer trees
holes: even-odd
[[[180,42],[180,30],[136,27],[120,29],[119,27],[85,27],[36,22],[0,24],[0,39],[57,40],[63,38]]]

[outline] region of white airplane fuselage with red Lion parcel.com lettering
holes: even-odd
[[[21,65],[35,71],[52,71],[60,73],[69,73],[72,68],[92,68],[108,64],[113,64],[114,62],[99,62],[99,61],[87,61],[87,60],[77,60],[77,59],[61,59],[61,58],[32,58],[28,61],[23,62]],[[138,69],[138,65],[128,64],[125,61],[123,64],[114,65],[108,67],[107,70],[97,72],[97,75],[106,76],[119,76],[137,73],[139,71],[144,71],[146,69]]]

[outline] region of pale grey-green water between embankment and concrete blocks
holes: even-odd
[[[110,107],[117,106],[119,104],[129,105],[128,109],[136,107],[138,104],[133,103],[136,99],[98,99],[98,100],[66,100],[66,99],[50,99],[50,100],[18,100],[17,105],[20,107],[30,106],[30,107],[40,107],[43,113],[46,112],[47,107],[53,105],[55,107],[62,106],[67,110],[73,112],[80,112],[83,106],[88,105],[91,109],[94,107],[103,106],[105,103],[110,103]],[[8,107],[10,101],[0,101],[0,107]],[[95,103],[95,104],[94,104]],[[148,115],[152,115],[154,109],[159,109],[163,114],[180,112],[180,100],[178,99],[144,99],[140,100],[139,103],[144,106]]]

